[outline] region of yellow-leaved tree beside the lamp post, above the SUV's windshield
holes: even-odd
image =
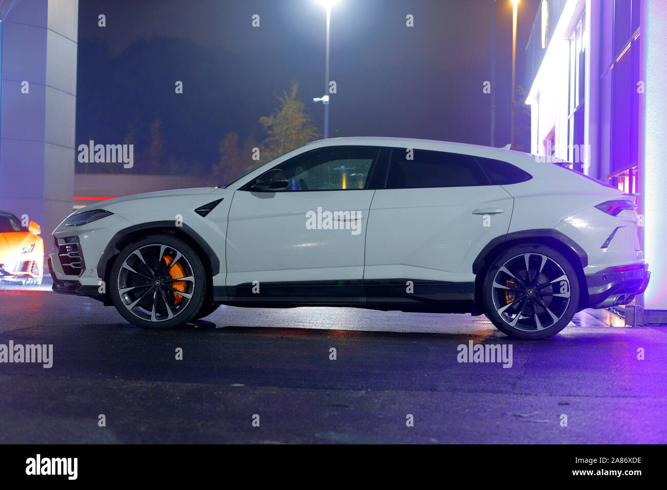
[[[269,116],[259,118],[267,138],[261,149],[260,161],[265,163],[319,137],[312,117],[305,113],[305,103],[297,99],[299,84],[292,82],[289,95],[277,96],[280,107]]]

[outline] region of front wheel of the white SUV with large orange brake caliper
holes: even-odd
[[[169,235],[149,235],[115,257],[107,289],[118,313],[133,325],[169,329],[201,311],[206,275],[187,243]]]

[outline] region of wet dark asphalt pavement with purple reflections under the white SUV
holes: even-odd
[[[333,308],[220,307],[145,331],[50,291],[0,291],[0,311],[0,344],[53,344],[50,369],[0,363],[0,443],[667,442],[667,329],[606,311],[546,341]],[[459,363],[469,341],[512,345],[512,367]]]

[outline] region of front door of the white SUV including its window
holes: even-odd
[[[333,146],[274,167],[289,187],[234,193],[227,225],[229,301],[360,303],[379,150]]]

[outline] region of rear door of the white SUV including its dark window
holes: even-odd
[[[472,263],[507,233],[510,194],[476,157],[405,148],[391,149],[384,187],[366,233],[368,302],[472,300]]]

